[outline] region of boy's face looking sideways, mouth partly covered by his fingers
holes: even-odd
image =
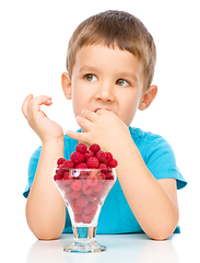
[[[83,110],[105,108],[129,126],[143,95],[142,64],[117,47],[82,47],[64,92],[72,99],[75,116],[82,116]]]

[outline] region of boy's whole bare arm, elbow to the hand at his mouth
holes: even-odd
[[[128,127],[111,112],[84,111],[77,118],[85,133],[68,132],[68,136],[101,145],[118,161],[116,172],[123,194],[138,222],[152,239],[167,239],[178,224],[176,180],[156,180],[146,168]]]

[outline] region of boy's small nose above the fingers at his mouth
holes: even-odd
[[[103,102],[113,102],[115,100],[115,87],[108,81],[101,82],[95,99]]]

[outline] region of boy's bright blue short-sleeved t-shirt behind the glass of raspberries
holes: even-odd
[[[80,130],[79,130],[80,132]],[[158,135],[143,132],[139,128],[129,127],[131,137],[138,147],[148,169],[158,179],[176,179],[177,188],[186,186],[187,182],[180,174],[174,151],[169,144]],[[75,150],[78,141],[64,136],[64,158],[70,159],[70,155]],[[33,184],[37,163],[39,160],[42,147],[39,147],[31,157],[28,164],[28,183],[23,193],[28,196],[30,187]],[[146,215],[148,216],[148,215]],[[71,221],[67,211],[64,233],[72,232]],[[98,218],[97,233],[126,233],[143,232],[137,221],[128,202],[123,195],[119,181],[110,190]],[[177,227],[176,232],[179,232]]]

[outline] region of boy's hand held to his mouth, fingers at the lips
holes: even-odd
[[[125,139],[131,139],[127,125],[111,111],[98,110],[96,113],[85,110],[84,117],[77,122],[83,133],[67,132],[67,135],[87,144],[98,144],[103,150],[114,153]]]

